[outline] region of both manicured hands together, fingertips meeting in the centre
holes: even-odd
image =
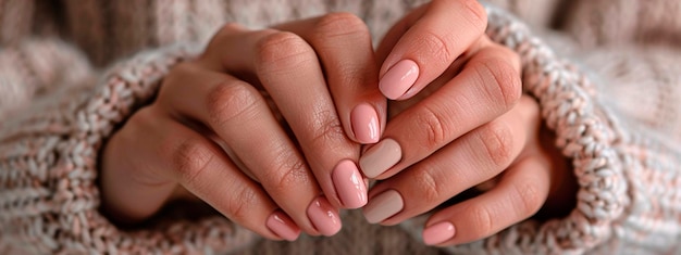
[[[137,222],[191,195],[293,241],[335,234],[342,208],[396,225],[495,180],[438,207],[423,241],[471,242],[531,217],[555,193],[555,167],[538,107],[521,95],[519,58],[485,27],[472,0],[414,9],[375,52],[347,13],[228,24],[107,143],[104,208]]]

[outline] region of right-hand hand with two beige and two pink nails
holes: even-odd
[[[498,177],[426,222],[426,244],[466,243],[533,216],[549,195],[565,163],[541,146],[538,107],[521,99],[518,55],[485,27],[478,1],[436,0],[382,41],[380,88],[398,100],[389,110],[401,112],[360,158],[367,177],[383,180],[363,209],[370,222],[398,224]]]

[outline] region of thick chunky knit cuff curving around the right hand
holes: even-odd
[[[486,7],[486,34],[516,51],[525,93],[540,103],[542,119],[556,145],[572,162],[579,183],[577,207],[565,218],[525,220],[491,238],[448,247],[454,254],[582,254],[614,234],[629,204],[628,182],[616,143],[618,132],[593,97],[586,75],[559,58],[528,27],[500,9]]]

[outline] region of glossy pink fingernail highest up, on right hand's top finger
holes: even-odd
[[[405,94],[419,78],[419,65],[411,60],[401,60],[383,75],[379,88],[392,100]]]

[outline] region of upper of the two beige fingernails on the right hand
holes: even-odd
[[[401,156],[399,143],[393,139],[383,139],[359,158],[359,167],[364,176],[374,178],[397,164]]]

